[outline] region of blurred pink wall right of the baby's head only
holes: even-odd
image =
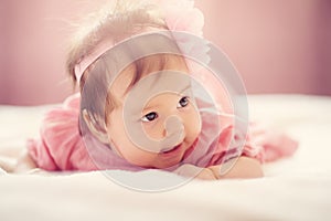
[[[331,1],[204,2],[205,34],[229,55],[249,93],[331,94]]]

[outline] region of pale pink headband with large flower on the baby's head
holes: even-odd
[[[159,0],[158,6],[164,11],[164,21],[169,30],[202,35],[204,18],[202,12],[194,8],[193,0]],[[75,65],[75,77],[78,84],[86,69],[114,45],[113,39],[105,39],[89,54],[82,57]]]

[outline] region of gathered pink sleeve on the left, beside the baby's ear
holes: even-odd
[[[46,113],[40,138],[28,140],[28,150],[45,170],[96,170],[78,129],[79,95],[66,98],[60,108]]]

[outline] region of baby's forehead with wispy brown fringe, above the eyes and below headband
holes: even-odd
[[[153,75],[152,77],[150,77]],[[145,81],[149,78],[148,81]],[[143,81],[142,81],[143,80]],[[191,83],[185,61],[180,55],[151,55],[128,65],[114,81],[110,93],[124,98],[132,88],[139,86],[137,93],[153,96],[160,88],[174,90],[180,93]]]

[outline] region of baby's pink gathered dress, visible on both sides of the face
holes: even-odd
[[[118,157],[109,147],[93,136],[79,135],[79,95],[70,96],[62,105],[49,112],[42,123],[40,138],[28,141],[29,154],[38,167],[45,170],[142,170]],[[183,164],[200,167],[220,165],[228,159],[247,156],[260,162],[291,156],[298,144],[282,134],[258,128],[250,124],[246,137],[236,136],[232,124],[215,131],[215,120],[209,113],[201,112],[202,133]],[[223,120],[226,122],[226,120]],[[214,136],[211,136],[214,134]],[[212,137],[212,139],[211,139]],[[239,139],[239,140],[236,140]],[[244,144],[238,148],[239,143]],[[88,144],[88,145],[85,145]]]

